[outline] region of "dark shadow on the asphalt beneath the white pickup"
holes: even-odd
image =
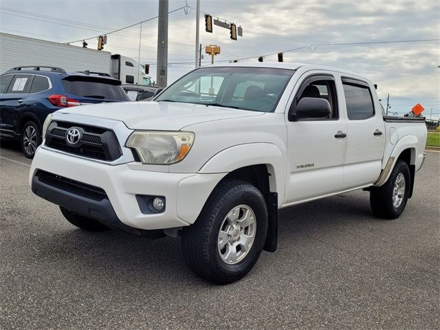
[[[56,221],[65,220],[59,214]],[[376,221],[369,210],[368,197],[362,192],[285,208],[280,211],[278,249],[296,244],[302,236],[359,221]],[[56,264],[67,261],[76,265],[83,276],[98,276],[103,280],[110,276],[140,286],[150,281],[157,285],[175,282],[194,285],[197,281],[202,287],[210,286],[186,267],[179,238],[150,240],[115,230],[85,232],[63,223],[63,230],[54,231],[39,243],[39,257]]]

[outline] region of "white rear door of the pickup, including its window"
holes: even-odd
[[[381,109],[374,87],[363,80],[342,77],[347,109],[347,155],[343,190],[373,184],[382,169],[385,146]],[[379,103],[379,102],[377,102]]]

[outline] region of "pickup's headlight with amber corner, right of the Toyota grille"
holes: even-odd
[[[134,148],[143,164],[174,164],[188,154],[194,142],[191,132],[134,131],[126,146]]]

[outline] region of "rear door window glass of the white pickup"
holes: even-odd
[[[349,120],[362,120],[374,116],[373,98],[369,87],[342,83]]]

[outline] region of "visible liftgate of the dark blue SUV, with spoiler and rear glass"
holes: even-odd
[[[67,76],[63,80],[67,98],[80,104],[128,101],[120,81],[97,76]]]

